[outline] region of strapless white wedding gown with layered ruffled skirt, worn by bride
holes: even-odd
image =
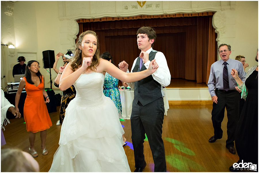
[[[49,172],[130,172],[118,110],[103,94],[102,73],[81,74],[68,104]]]

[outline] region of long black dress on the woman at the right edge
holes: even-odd
[[[245,80],[247,97],[241,112],[235,144],[239,162],[258,165],[258,71],[254,70]]]

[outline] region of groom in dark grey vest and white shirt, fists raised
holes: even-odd
[[[162,52],[153,50],[156,40],[156,32],[151,27],[141,27],[137,32],[138,48],[140,56],[135,59],[131,72],[139,72],[148,68],[150,61],[155,59],[159,68],[152,75],[132,83],[134,88],[134,100],[130,117],[132,144],[134,148],[135,167],[134,172],[142,172],[146,167],[144,158],[145,133],[152,151],[155,163],[155,172],[166,172],[165,148],[162,139],[162,125],[164,119],[165,96],[163,86],[168,86],[171,75],[165,56]],[[124,72],[129,72],[125,61],[119,63]]]

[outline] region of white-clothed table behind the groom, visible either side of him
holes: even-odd
[[[163,88],[163,91],[165,93],[164,99],[164,107],[165,107],[165,115],[167,115],[167,110],[169,109],[169,103],[166,93],[166,88]],[[122,113],[121,113],[121,119],[130,119],[131,111],[132,111],[132,101],[134,99],[134,91],[126,89],[126,90],[120,90],[121,95],[121,107],[122,107]]]

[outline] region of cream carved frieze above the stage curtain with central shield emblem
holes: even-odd
[[[58,15],[60,20],[78,20],[217,12],[234,10],[235,6],[235,1],[58,1]]]

